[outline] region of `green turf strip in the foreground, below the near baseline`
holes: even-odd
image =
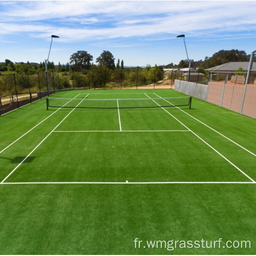
[[[3,185],[1,254],[255,254],[253,184]],[[250,195],[250,196],[249,196]],[[135,248],[249,240],[251,248]]]

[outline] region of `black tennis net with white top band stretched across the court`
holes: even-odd
[[[137,108],[167,108],[171,106],[189,106],[192,97],[175,98],[141,98],[141,99],[68,99],[47,98],[49,108],[78,108],[78,109],[137,109]]]

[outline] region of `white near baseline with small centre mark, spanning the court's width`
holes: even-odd
[[[255,184],[251,181],[149,181],[149,182],[5,182],[0,185],[32,185],[32,184]]]

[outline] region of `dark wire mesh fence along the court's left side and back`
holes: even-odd
[[[164,78],[161,69],[97,69],[86,72],[0,74],[0,115],[63,90],[153,88]],[[174,87],[174,78],[169,88]]]

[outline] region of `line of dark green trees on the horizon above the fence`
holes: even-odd
[[[87,56],[86,62],[84,62],[84,56]],[[79,60],[79,57],[83,57],[83,63]],[[103,65],[108,69],[148,69],[151,68],[151,65],[146,66],[124,66],[123,60],[118,59],[115,64],[115,58],[109,51],[103,51],[102,54],[96,59],[98,65],[95,65],[92,62],[93,56],[87,53],[86,51],[77,51],[72,54],[70,57],[70,62],[60,63],[55,65],[54,62],[48,62],[48,71],[58,71],[58,72],[69,72],[69,71],[81,71],[90,70],[93,66]],[[237,62],[237,61],[249,61],[250,55],[247,55],[245,51],[240,50],[220,50],[219,52],[214,53],[211,57],[206,56],[204,60],[191,60],[191,68],[200,68],[209,69],[222,65],[227,62]],[[80,61],[80,62],[79,62]],[[187,59],[182,59],[178,64],[170,62],[167,65],[155,65],[155,67],[161,68],[188,68],[189,61]],[[0,62],[0,73],[1,72],[15,72],[15,73],[37,73],[45,72],[45,61],[40,63],[36,62],[12,62],[9,59],[6,59],[4,62]]]

